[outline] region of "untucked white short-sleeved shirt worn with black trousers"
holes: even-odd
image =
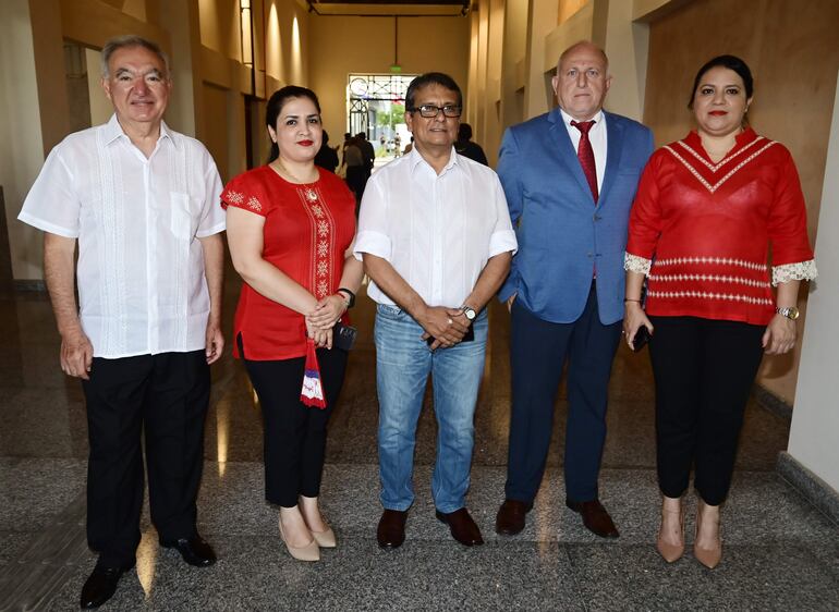
[[[204,145],[166,124],[149,158],[115,115],[52,149],[17,218],[78,238],[80,318],[94,356],[204,348],[209,293],[197,238],[224,230],[220,194]]]

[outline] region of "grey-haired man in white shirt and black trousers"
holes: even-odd
[[[195,499],[209,364],[224,346],[216,164],[162,121],[171,82],[157,45],[117,38],[102,62],[113,117],[52,149],[19,217],[45,232],[61,369],[82,379],[87,404],[87,539],[99,559],[82,608],[105,603],[134,566],[142,433],[161,544],[191,565],[216,561],[196,530]]]

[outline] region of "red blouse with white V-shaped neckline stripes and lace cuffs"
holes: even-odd
[[[625,268],[648,274],[646,313],[767,325],[771,284],[816,276],[789,150],[747,128],[718,163],[696,132],[649,158]]]

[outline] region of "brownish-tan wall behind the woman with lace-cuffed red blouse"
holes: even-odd
[[[720,53],[742,57],[755,75],[750,120],[792,151],[815,238],[839,68],[839,2],[753,0],[749,5],[744,11],[739,2],[703,0],[650,23],[645,123],[658,144],[682,137],[692,125],[685,105],[696,70]],[[802,310],[805,303],[802,291]],[[758,375],[758,382],[789,403],[800,350],[798,343],[789,355],[765,358]]]

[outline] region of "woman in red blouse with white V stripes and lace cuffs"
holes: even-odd
[[[627,342],[641,326],[655,329],[658,550],[668,562],[684,550],[693,465],[694,554],[708,567],[721,559],[719,507],[762,356],[792,348],[799,284],[816,276],[792,157],[745,125],[752,88],[739,58],[700,69],[689,105],[696,131],[649,159],[627,244]]]

